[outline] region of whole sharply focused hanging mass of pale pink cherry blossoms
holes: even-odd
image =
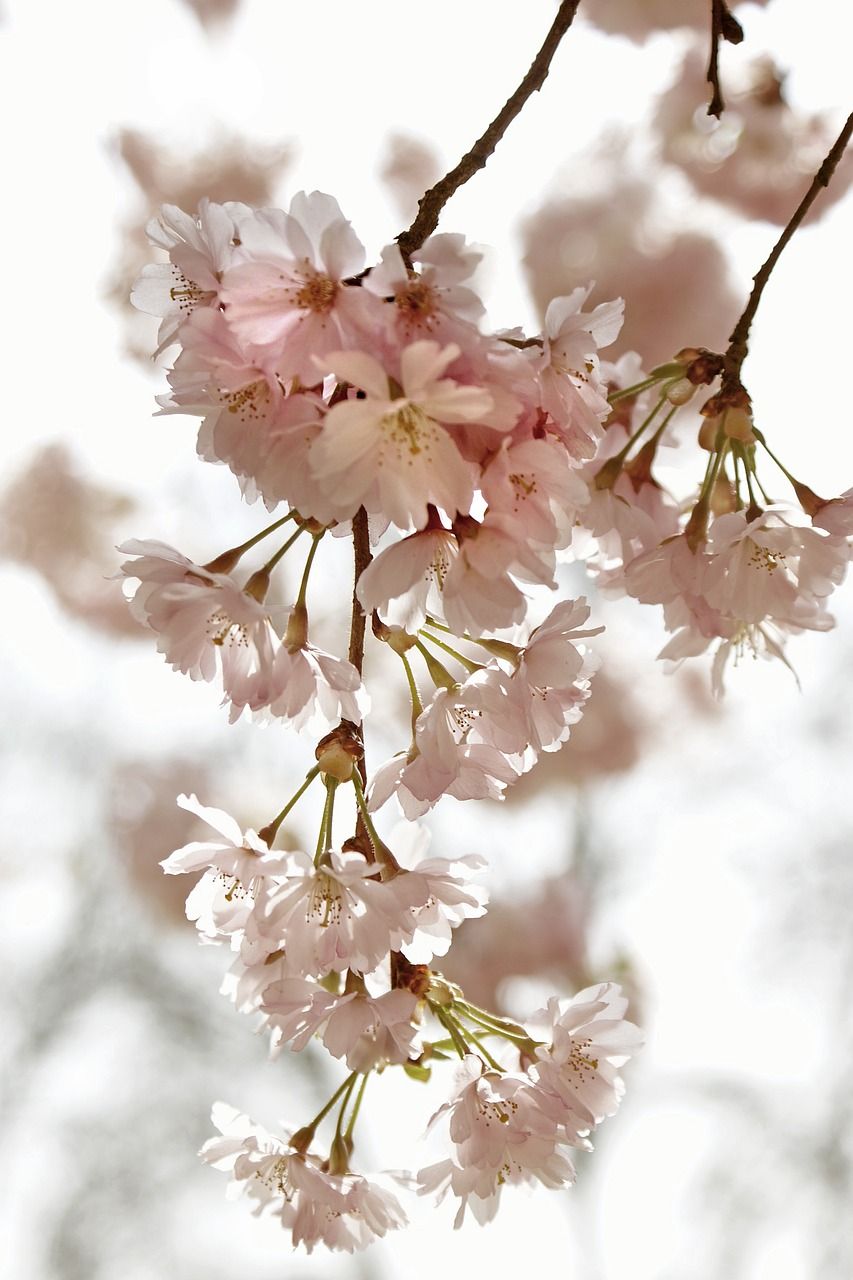
[[[799,515],[760,507],[756,453],[770,451],[745,393],[724,383],[702,411],[704,479],[676,503],[654,479],[657,448],[722,357],[685,349],[648,374],[638,357],[602,364],[622,307],[585,310],[590,288],[555,298],[538,335],[488,334],[471,285],[479,255],[461,236],[410,256],[391,244],[368,268],[319,192],[287,212],[167,206],[149,233],[167,260],[143,270],[133,301],[161,317],[159,351],[177,348],[161,408],[197,415],[200,456],[275,518],[205,563],[126,543],[132,609],[175,669],[222,684],[232,719],[278,718],[315,755],[257,829],[179,797],[215,836],[163,865],[201,873],[187,914],[231,952],[223,991],[261,1020],[273,1055],[321,1042],[348,1071],[310,1123],[278,1137],[218,1105],[204,1158],[278,1212],[295,1243],[361,1248],[406,1221],[400,1187],[352,1167],[365,1085],[391,1068],[425,1078],[457,1056],[433,1117],[446,1157],[402,1181],[450,1192],[457,1225],[467,1208],[488,1221],[506,1184],[571,1183],[573,1148],[616,1110],[639,1033],[612,983],[515,1023],[446,980],[437,957],[485,910],[483,863],[433,856],[418,819],[444,796],[501,799],[583,714],[588,641],[602,628],[583,598],[546,613],[560,561],[583,558],[607,590],[661,604],[675,632],[665,655],[713,645],[719,681],[731,652],[781,655],[785,632],[829,625],[853,500],[790,477]],[[347,657],[311,641],[309,586],[329,534],[355,545]],[[275,549],[257,566],[264,543]],[[293,548],[305,548],[298,590],[275,602]],[[410,735],[373,772],[366,620],[411,703]],[[342,788],[356,813],[345,838]],[[275,847],[307,792],[323,796],[314,851]]]

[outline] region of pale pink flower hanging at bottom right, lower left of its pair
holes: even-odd
[[[430,1120],[447,1117],[453,1155],[419,1170],[420,1194],[447,1190],[460,1198],[453,1226],[470,1207],[478,1222],[497,1212],[508,1183],[539,1181],[567,1187],[575,1180],[571,1161],[560,1148],[557,1126],[539,1106],[539,1088],[529,1075],[487,1070],[475,1055],[457,1070],[455,1097]]]

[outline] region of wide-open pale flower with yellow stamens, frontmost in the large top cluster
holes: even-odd
[[[366,393],[329,410],[311,451],[315,476],[339,518],[364,506],[409,530],[426,524],[428,503],[451,518],[469,511],[474,471],[448,425],[482,419],[493,401],[483,388],[441,376],[457,356],[453,344],[442,349],[425,340],[405,347],[401,396],[371,356],[336,352],[324,361],[337,378]]]

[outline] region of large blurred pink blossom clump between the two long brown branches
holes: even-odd
[[[599,189],[555,195],[523,225],[524,265],[537,307],[594,280],[593,302],[625,298],[611,360],[638,351],[646,366],[684,346],[725,347],[738,300],[722,250],[698,230],[667,227],[656,184],[633,175],[613,148]]]

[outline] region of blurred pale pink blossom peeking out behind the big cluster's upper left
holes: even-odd
[[[214,9],[214,4],[193,4]],[[222,8],[222,5],[219,5]],[[187,154],[170,151],[137,129],[122,129],[115,140],[141,200],[131,209],[122,227],[123,247],[110,271],[108,297],[124,312],[126,340],[131,355],[146,364],[151,360],[151,323],[131,306],[131,288],[151,259],[146,224],[160,205],[196,209],[206,196],[214,202],[231,200],[264,206],[275,198],[275,189],[292,160],[288,145],[263,146],[238,136],[213,140],[207,147]]]

